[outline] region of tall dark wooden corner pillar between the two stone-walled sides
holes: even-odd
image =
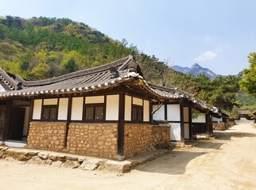
[[[119,91],[119,115],[118,115],[118,155],[124,156],[124,120],[125,120],[125,91]],[[122,159],[122,158],[120,158]]]

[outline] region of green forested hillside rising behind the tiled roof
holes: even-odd
[[[182,74],[126,40],[113,40],[68,18],[0,17],[0,67],[28,80],[52,78],[110,63],[133,52],[147,81],[176,86],[208,104],[231,111],[237,104],[241,76]]]

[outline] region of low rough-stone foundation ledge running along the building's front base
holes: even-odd
[[[0,159],[24,161],[37,165],[52,165],[57,167],[95,170],[106,169],[112,172],[124,173],[129,171],[138,161],[111,161],[100,158],[85,158],[72,154],[28,150],[0,146]]]

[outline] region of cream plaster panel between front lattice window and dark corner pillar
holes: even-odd
[[[119,95],[108,95],[106,105],[106,120],[118,120]]]

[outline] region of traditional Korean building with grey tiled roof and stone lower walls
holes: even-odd
[[[130,158],[192,139],[192,108],[212,113],[189,93],[147,83],[131,55],[41,81],[0,69],[0,84],[0,139],[42,150]]]

